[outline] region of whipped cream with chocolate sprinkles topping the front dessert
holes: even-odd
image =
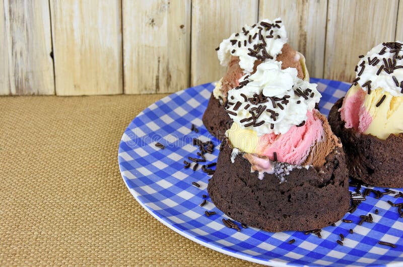
[[[295,68],[281,69],[281,62],[264,62],[228,92],[226,111],[234,123],[258,136],[285,134],[305,123],[307,111],[315,108],[320,97],[316,84],[298,78]]]

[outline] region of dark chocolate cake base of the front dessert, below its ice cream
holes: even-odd
[[[268,173],[259,180],[241,153],[235,163],[231,153],[225,145],[207,190],[216,207],[234,220],[271,232],[313,230],[339,221],[350,207],[347,168],[339,147],[320,168],[294,168],[283,183]]]

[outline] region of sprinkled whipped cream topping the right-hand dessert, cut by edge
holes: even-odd
[[[403,96],[403,42],[382,43],[372,48],[356,66],[356,78],[364,91],[381,87],[393,97]]]

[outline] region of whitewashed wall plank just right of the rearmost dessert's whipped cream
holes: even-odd
[[[326,12],[326,1],[265,0],[260,1],[259,20],[281,17],[287,30],[288,43],[305,55],[309,75],[321,78]]]

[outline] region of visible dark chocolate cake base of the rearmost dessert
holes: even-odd
[[[231,128],[234,122],[228,113],[225,112],[225,107],[214,97],[213,93],[202,120],[207,130],[219,140],[225,137],[225,132]]]

